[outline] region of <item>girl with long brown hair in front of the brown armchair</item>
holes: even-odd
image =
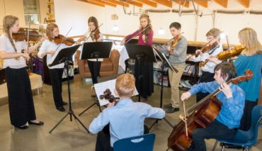
[[[85,35],[81,36],[76,43],[81,43],[81,41],[85,40],[89,36],[91,39],[87,40],[87,42],[101,42],[103,40],[103,34],[100,33],[100,30],[98,29],[98,21],[95,17],[91,16],[89,18],[89,31],[86,32]],[[80,47],[79,50],[82,50],[83,47]],[[87,63],[89,65],[89,70],[91,72],[91,78],[93,84],[97,84],[97,78],[100,77],[100,67],[101,67],[101,62],[103,59],[98,59],[98,62],[96,62],[96,59],[89,59],[87,60]]]

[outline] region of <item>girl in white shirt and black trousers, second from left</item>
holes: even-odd
[[[69,47],[64,43],[55,43],[55,37],[59,36],[59,28],[55,23],[49,23],[46,28],[46,34],[48,39],[45,40],[38,52],[38,57],[42,58],[47,55],[47,65],[50,65],[55,60],[56,55],[60,50],[65,47]],[[58,47],[58,48],[57,48]],[[53,99],[55,101],[55,107],[58,111],[65,111],[64,105],[66,102],[62,99],[62,74],[64,72],[64,63],[49,67],[50,79],[52,83]]]

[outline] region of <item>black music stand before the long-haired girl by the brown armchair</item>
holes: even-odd
[[[96,59],[96,62],[98,62],[98,58],[108,58],[110,56],[112,45],[113,45],[112,42],[84,43],[83,50],[81,51],[79,59],[80,60]],[[96,99],[96,102],[91,104],[91,106],[86,108],[81,113],[79,113],[79,116],[81,116],[84,112],[88,111],[89,108],[91,108],[94,105],[97,105],[99,107],[99,111],[101,112],[100,104],[98,102],[98,99]]]

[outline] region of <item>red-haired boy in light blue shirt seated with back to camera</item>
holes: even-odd
[[[96,151],[113,150],[116,140],[144,134],[145,118],[164,118],[161,108],[133,102],[130,96],[135,91],[135,78],[132,74],[120,75],[115,82],[115,92],[120,96],[117,104],[110,103],[89,126],[91,133],[98,133]],[[115,105],[115,106],[114,106]],[[106,128],[109,124],[109,133]],[[104,128],[104,129],[103,129]]]

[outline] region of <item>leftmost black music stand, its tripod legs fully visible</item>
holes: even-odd
[[[57,54],[57,57],[55,57],[55,60],[52,62],[52,64],[48,65],[50,67],[54,66],[54,65],[58,65],[64,62],[64,67],[67,68],[67,87],[68,87],[68,99],[69,99],[69,111],[67,112],[67,114],[57,123],[57,125],[59,125],[59,123],[61,123],[64,118],[66,118],[68,115],[70,115],[70,121],[72,121],[72,116],[74,116],[74,118],[76,119],[76,121],[79,121],[79,123],[83,126],[83,128],[89,133],[89,130],[84,126],[83,123],[81,123],[81,121],[79,120],[79,118],[76,117],[76,115],[74,115],[74,111],[72,110],[72,104],[71,104],[71,94],[70,94],[70,86],[69,86],[69,65],[72,65],[72,56],[74,55],[74,53],[76,52],[76,50],[79,48],[79,45],[75,45],[73,47],[67,47],[64,48],[62,50],[60,50]],[[55,128],[57,127],[57,125],[54,126],[54,128],[52,128],[52,130],[50,130],[49,133],[52,133],[53,130],[55,130]]]

